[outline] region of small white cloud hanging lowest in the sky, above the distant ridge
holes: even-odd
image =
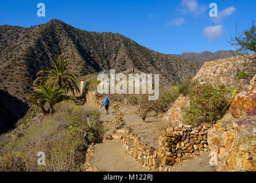
[[[225,31],[222,27],[222,25],[216,25],[216,26],[209,26],[206,27],[203,31],[203,35],[207,38],[210,38],[210,40],[215,38],[221,38]]]

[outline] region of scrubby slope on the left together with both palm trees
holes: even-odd
[[[0,136],[0,171],[82,170],[88,145],[103,140],[99,112],[76,106],[75,97],[68,96],[79,92],[77,74],[68,65],[57,57],[38,71],[28,113]],[[38,152],[44,152],[45,166],[37,166]]]

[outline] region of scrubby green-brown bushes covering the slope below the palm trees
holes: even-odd
[[[0,171],[80,171],[87,147],[103,140],[99,113],[72,101],[56,105],[56,112],[42,117],[33,108],[17,128],[0,136]],[[45,153],[45,166],[37,153]]]

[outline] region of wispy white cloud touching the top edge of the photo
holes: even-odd
[[[196,0],[182,0],[181,5],[183,9],[181,9],[181,13],[194,13],[195,15],[200,15],[205,12],[207,6],[199,5]]]

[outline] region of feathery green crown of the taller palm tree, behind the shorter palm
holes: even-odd
[[[38,77],[34,83],[38,81],[42,83],[56,82],[57,88],[63,88],[65,92],[71,91],[75,96],[75,91],[80,92],[79,87],[76,85],[78,75],[73,71],[68,71],[69,62],[62,57],[53,59],[52,69],[43,69],[37,75],[44,75]]]

